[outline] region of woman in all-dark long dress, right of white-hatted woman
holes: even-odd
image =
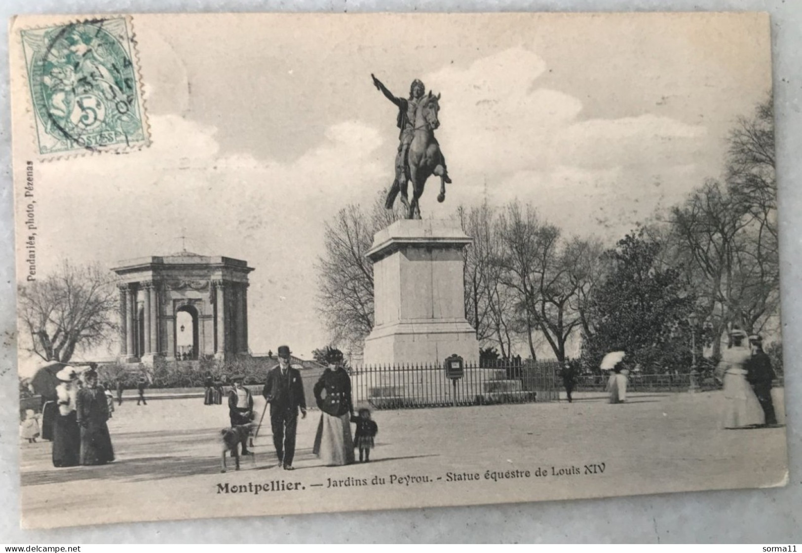
[[[81,464],[105,465],[114,461],[111,436],[108,434],[108,404],[98,386],[98,373],[88,369],[83,373],[86,385],[75,398],[78,425],[81,428]]]

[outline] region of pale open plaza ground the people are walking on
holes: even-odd
[[[376,411],[371,463],[340,467],[321,466],[312,454],[320,415],[310,411],[299,419],[291,472],[275,467],[268,414],[255,465],[245,460],[243,470],[227,474],[220,474],[219,441],[225,406],[201,398],[126,401],[109,422],[117,455],[110,465],[55,469],[50,442],[22,444],[23,525],[507,503],[772,486],[786,478],[785,428],[721,430],[721,392],[632,394],[622,405],[606,403],[605,394],[577,396],[571,404]],[[255,399],[261,414],[264,403]],[[485,478],[514,470],[530,475]],[[375,478],[385,483],[372,485]],[[269,490],[270,482],[298,489]],[[268,491],[232,491],[257,484]]]

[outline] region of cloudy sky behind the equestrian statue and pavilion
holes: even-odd
[[[185,233],[191,251],[256,268],[255,352],[286,342],[306,356],[327,342],[314,311],[323,224],[393,177],[395,107],[371,73],[396,95],[415,78],[442,94],[437,138],[454,183],[437,204],[430,181],[424,217],[519,198],[566,235],[610,244],[719,176],[728,129],[771,88],[768,18],[750,14],[151,14],[133,25],[152,146],[38,163],[39,271],[176,252]],[[15,77],[17,162],[35,159],[24,85]]]

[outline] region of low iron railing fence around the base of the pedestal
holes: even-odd
[[[559,398],[556,361],[465,365],[449,378],[438,365],[365,365],[351,370],[354,403],[374,409],[554,402]]]

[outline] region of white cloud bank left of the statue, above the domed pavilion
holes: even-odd
[[[41,166],[39,182],[50,188],[40,191],[47,197],[38,211],[40,269],[47,272],[67,252],[109,267],[175,252],[185,233],[189,250],[240,257],[257,269],[249,291],[257,306],[249,313],[258,329],[254,349],[275,349],[279,339],[302,352],[326,343],[322,326],[309,325],[312,265],[326,217],[347,202],[372,198],[384,180],[374,155],[377,131],[338,123],[318,147],[278,163],[220,155],[214,127],[174,115],[151,123],[153,144],[143,151]],[[77,189],[80,195],[71,193]],[[68,220],[65,212],[72,213]]]

